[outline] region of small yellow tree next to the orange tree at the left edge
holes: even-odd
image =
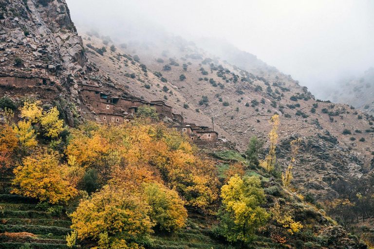
[[[26,155],[28,149],[37,146],[35,140],[37,134],[35,134],[31,121],[19,121],[18,126],[14,127],[14,133],[21,143],[22,155]]]

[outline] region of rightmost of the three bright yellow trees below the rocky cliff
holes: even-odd
[[[43,127],[47,137],[56,138],[63,130],[63,121],[58,119],[57,107],[53,107],[40,118],[40,125]]]

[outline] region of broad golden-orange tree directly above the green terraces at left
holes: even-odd
[[[14,194],[37,198],[51,204],[63,203],[77,194],[65,179],[66,165],[59,163],[55,152],[39,150],[23,159],[12,180]]]

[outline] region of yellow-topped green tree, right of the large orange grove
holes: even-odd
[[[259,178],[238,176],[230,178],[221,189],[224,213],[221,231],[228,241],[252,241],[256,228],[266,224],[269,214],[261,208],[265,195]]]

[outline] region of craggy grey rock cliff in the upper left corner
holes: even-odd
[[[25,67],[87,71],[83,43],[65,0],[0,0],[0,50],[6,63],[18,55]]]

